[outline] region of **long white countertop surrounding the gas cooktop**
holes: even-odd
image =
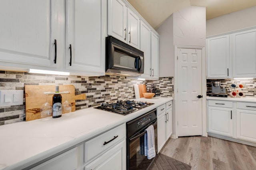
[[[96,137],[126,123],[173,98],[140,98],[136,101],[154,103],[130,113],[119,115],[93,107],[63,114],[0,126],[0,170],[20,170],[74,145]]]

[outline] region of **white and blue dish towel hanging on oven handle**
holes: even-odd
[[[154,126],[150,125],[145,131],[147,131],[144,135],[145,156],[147,156],[148,159],[152,159],[156,156]]]

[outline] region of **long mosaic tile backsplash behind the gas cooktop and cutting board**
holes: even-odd
[[[159,80],[132,80],[123,76],[60,76],[32,74],[0,70],[0,90],[24,90],[25,85],[65,85],[72,84],[76,94],[86,94],[86,100],[76,101],[76,110],[98,106],[102,102],[114,102],[135,98],[134,84],[157,84],[156,96],[173,97],[173,77]],[[0,125],[25,120],[24,104],[19,106],[0,106]]]

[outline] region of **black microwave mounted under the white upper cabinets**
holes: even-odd
[[[106,37],[106,74],[139,76],[143,73],[143,51],[112,36]]]

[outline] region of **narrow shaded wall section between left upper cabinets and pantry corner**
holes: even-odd
[[[174,76],[173,14],[156,30],[159,37],[159,77]]]

